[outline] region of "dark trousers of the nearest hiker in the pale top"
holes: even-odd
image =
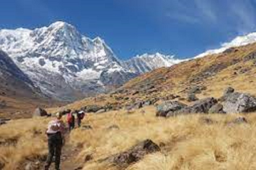
[[[62,136],[60,132],[54,134],[47,134],[48,135],[48,156],[45,165],[45,170],[48,170],[53,156],[55,156],[55,169],[60,169],[60,156],[61,156],[61,148],[62,148]]]

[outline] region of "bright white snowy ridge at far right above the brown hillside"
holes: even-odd
[[[206,55],[211,55],[211,54],[218,54],[218,53],[224,52],[228,48],[243,46],[243,45],[247,45],[254,42],[256,42],[256,33],[250,33],[246,36],[238,36],[235,39],[233,39],[231,42],[222,43],[221,48],[207,50],[195,56],[194,58],[200,58],[200,57],[204,57]]]

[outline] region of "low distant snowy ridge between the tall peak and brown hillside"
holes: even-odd
[[[177,64],[183,60],[175,59],[174,56],[156,54],[143,54],[132,57],[129,60],[123,61],[122,65],[132,72],[142,74],[152,71],[160,67],[170,67],[173,64]]]

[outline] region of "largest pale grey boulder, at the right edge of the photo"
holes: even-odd
[[[226,113],[255,112],[256,98],[245,93],[231,93],[225,97],[223,110]]]

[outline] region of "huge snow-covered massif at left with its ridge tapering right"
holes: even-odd
[[[65,22],[35,30],[1,30],[0,49],[43,93],[62,100],[102,93],[139,73],[173,63],[161,54],[123,62],[101,38],[83,36]]]

